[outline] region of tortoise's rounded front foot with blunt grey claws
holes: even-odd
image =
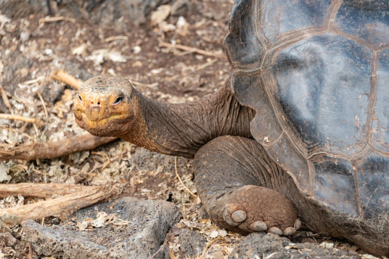
[[[272,189],[251,185],[235,188],[219,202],[223,225],[231,230],[291,236],[301,226],[291,202]]]

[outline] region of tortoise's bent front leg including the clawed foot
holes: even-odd
[[[201,147],[195,155],[199,196],[217,225],[241,233],[266,231],[290,236],[301,226],[292,203],[266,188],[255,140],[221,136]],[[262,176],[261,176],[262,174]]]

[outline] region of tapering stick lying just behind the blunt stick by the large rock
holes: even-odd
[[[66,185],[66,184],[4,184],[0,185],[0,198],[8,196],[22,195],[24,197],[40,197],[47,198],[53,197],[57,194],[64,196],[67,194],[81,192],[88,188],[95,188],[94,186],[82,186],[82,185]]]

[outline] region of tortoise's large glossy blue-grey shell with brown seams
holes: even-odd
[[[236,0],[225,47],[253,136],[300,191],[389,211],[389,1]]]

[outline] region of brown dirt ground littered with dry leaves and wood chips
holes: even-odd
[[[20,5],[27,1],[9,2],[14,4],[0,5],[0,84],[10,109],[4,97],[0,98],[0,113],[35,118],[37,123],[0,119],[0,149],[85,133],[76,125],[72,113],[77,91],[49,77],[57,69],[81,80],[103,73],[124,76],[147,97],[171,103],[193,101],[213,93],[230,73],[228,60],[217,55],[224,53],[232,0],[157,1],[156,5],[167,3],[171,10],[164,21],[155,25],[151,16],[155,6],[149,6],[151,9],[145,11],[144,21],[138,25],[131,17],[104,17],[101,10],[109,9],[112,1],[92,1],[97,3],[95,6],[76,1],[83,15],[78,15],[76,7],[70,8],[66,4],[69,1],[51,1],[50,16],[65,16],[52,22],[41,20],[48,15],[46,1],[32,1],[35,5],[31,6]],[[160,8],[160,12],[163,16],[164,10]],[[195,47],[210,55],[160,47],[161,42]],[[178,158],[177,165],[184,184],[195,194],[193,162]],[[209,220],[198,219],[200,200],[178,181],[174,157],[152,153],[123,140],[58,159],[1,162],[0,179],[2,184],[105,184],[115,189],[116,196],[173,201],[184,215],[177,227],[196,230],[208,243],[217,239],[198,258],[226,258],[242,239]],[[7,197],[0,200],[0,208],[37,201]],[[70,221],[71,217],[51,217],[42,224]],[[12,234],[23,239],[20,226],[12,228]],[[343,240],[305,231],[299,231],[292,242],[325,242],[339,250],[365,254]],[[174,240],[168,245],[173,255],[183,258]],[[28,246],[18,248],[19,251],[0,244],[0,258],[27,258]]]

